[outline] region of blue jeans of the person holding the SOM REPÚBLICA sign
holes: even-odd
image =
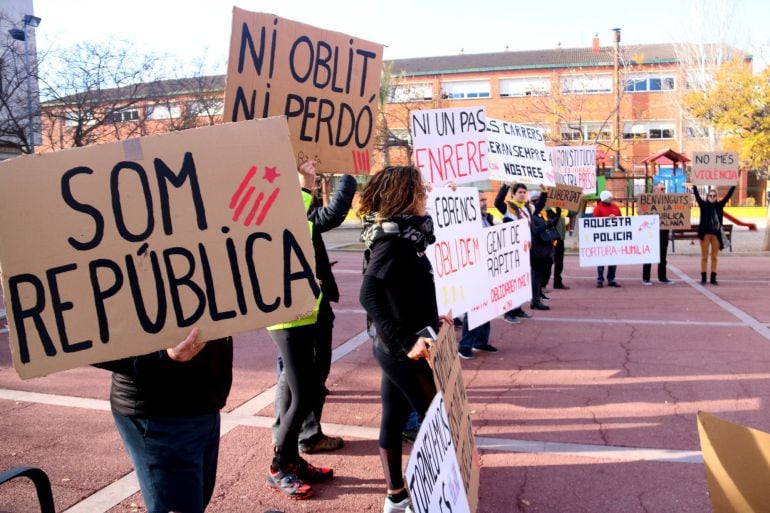
[[[148,513],[203,513],[214,492],[219,413],[126,417],[113,413]]]

